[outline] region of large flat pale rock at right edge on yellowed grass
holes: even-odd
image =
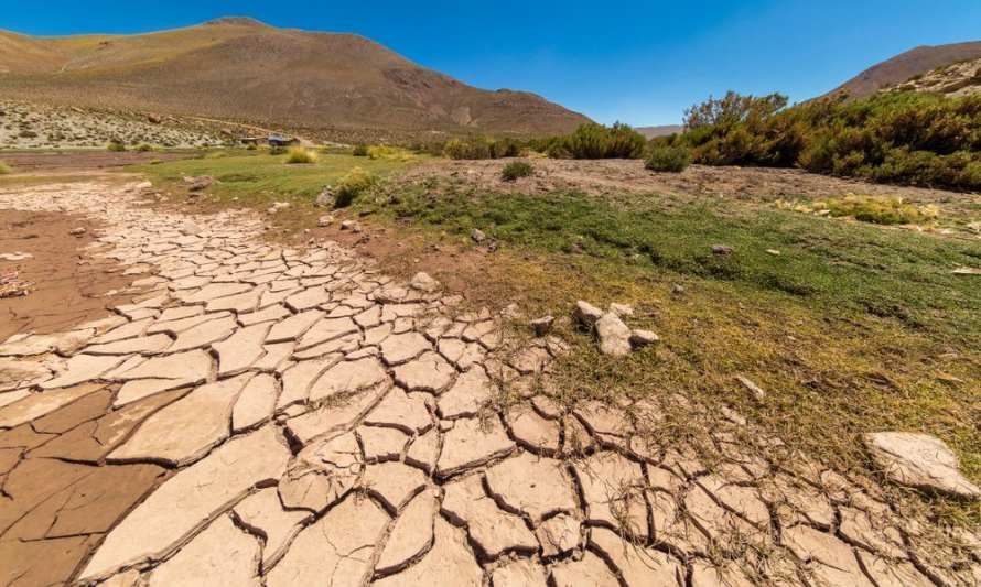
[[[936,436],[876,432],[864,439],[873,460],[893,481],[958,498],[981,498],[981,489],[961,475],[957,455]]]

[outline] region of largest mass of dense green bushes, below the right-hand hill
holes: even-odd
[[[981,96],[888,93],[783,104],[778,95],[710,99],[688,110],[688,132],[670,144],[691,148],[692,160],[707,165],[798,166],[981,189]]]

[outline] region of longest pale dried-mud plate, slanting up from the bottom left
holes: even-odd
[[[279,479],[290,458],[273,426],[235,438],[208,458],[176,472],[118,523],[82,572],[80,580],[160,559],[256,483]],[[147,532],[147,529],[154,529]]]

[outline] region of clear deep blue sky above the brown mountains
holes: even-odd
[[[726,89],[833,88],[917,45],[981,40],[981,0],[481,2],[0,0],[0,29],[134,33],[249,15],[359,33],[484,88],[527,89],[601,122],[676,123]]]

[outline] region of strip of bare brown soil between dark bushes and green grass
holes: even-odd
[[[691,165],[681,173],[654,173],[639,160],[531,161],[535,175],[504,182],[500,171],[511,160],[438,161],[409,170],[408,180],[445,176],[465,181],[483,189],[543,194],[557,189],[615,193],[668,193],[690,196],[756,199],[818,199],[844,194],[898,196],[917,204],[962,206],[981,204],[977,194],[944,189],[872,184],[859,180],[818,175],[800,170],[767,167],[713,167]]]

